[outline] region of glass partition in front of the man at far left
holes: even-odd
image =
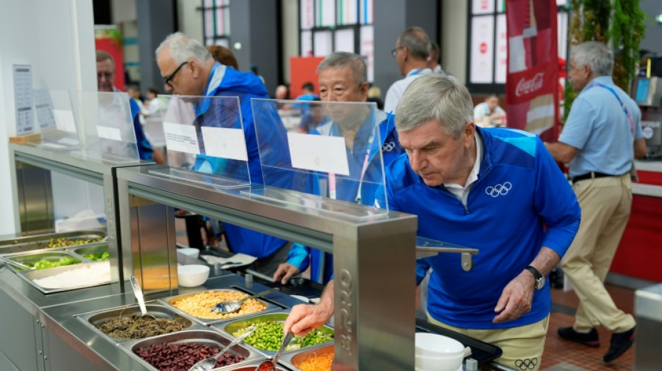
[[[121,92],[79,92],[85,157],[116,164],[139,160],[129,95]]]

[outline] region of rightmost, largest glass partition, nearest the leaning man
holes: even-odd
[[[354,218],[388,212],[387,205],[374,206],[385,179],[378,125],[386,115],[376,104],[255,98],[251,104],[265,187],[245,193]],[[300,104],[306,113],[293,124],[288,109]]]

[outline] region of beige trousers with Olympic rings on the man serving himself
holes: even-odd
[[[428,322],[432,324],[500,347],[503,354],[494,360],[496,363],[515,370],[537,371],[540,368],[549,315],[539,322],[526,326],[492,330],[462,329],[439,322],[429,313],[427,317]]]

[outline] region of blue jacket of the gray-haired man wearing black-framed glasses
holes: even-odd
[[[260,149],[255,134],[251,98],[268,98],[268,92],[261,79],[252,72],[239,72],[231,67],[215,63],[210,74],[205,95],[217,97],[239,97],[240,113],[243,120],[243,130],[246,140],[248,154],[248,168],[251,182],[262,183],[262,169],[260,164]],[[213,100],[201,100],[195,105],[196,125],[213,127],[240,127],[237,113],[228,113],[223,109],[229,106],[218,106]],[[231,120],[224,123],[222,120]],[[285,135],[284,127],[279,130],[275,125],[274,135]],[[200,142],[201,143],[201,142]],[[265,145],[266,147],[266,145]],[[263,155],[267,155],[267,150]],[[277,154],[282,158],[288,154]],[[199,168],[201,160],[207,160],[211,164],[213,173],[245,172],[245,165],[241,161],[217,159],[215,157],[200,156],[195,168]],[[226,237],[235,253],[245,253],[257,258],[265,258],[282,247],[286,241],[270,235],[265,235],[254,230],[223,223]]]

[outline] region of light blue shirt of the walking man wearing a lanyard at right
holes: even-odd
[[[633,119],[633,132],[623,107],[612,88]],[[639,106],[610,76],[590,81],[572,103],[568,119],[559,141],[577,148],[570,161],[570,176],[591,171],[622,175],[630,171],[634,159],[634,141],[642,138]]]

